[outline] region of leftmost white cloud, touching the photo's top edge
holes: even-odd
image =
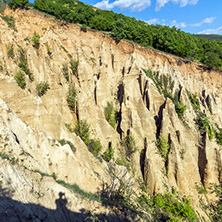
[[[103,0],[96,3],[94,6],[100,9],[110,10],[114,7],[118,7],[121,10],[130,9],[131,11],[142,11],[151,5],[151,0],[116,0],[109,2],[109,0]]]

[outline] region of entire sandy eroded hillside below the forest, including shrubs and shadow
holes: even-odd
[[[218,221],[221,71],[33,10],[11,16],[0,18],[3,221]]]

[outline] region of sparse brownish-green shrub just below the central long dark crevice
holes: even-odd
[[[122,141],[121,145],[125,149],[125,155],[130,160],[133,153],[137,151],[136,147],[136,141],[132,135],[132,133],[129,133]]]

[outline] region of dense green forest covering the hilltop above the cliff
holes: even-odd
[[[27,8],[28,0],[9,0],[10,7]],[[222,47],[216,40],[199,38],[176,27],[149,25],[113,11],[100,10],[74,0],[35,0],[35,9],[66,22],[104,31],[117,42],[126,39],[144,47],[153,47],[188,60],[199,61],[210,67],[221,69]]]

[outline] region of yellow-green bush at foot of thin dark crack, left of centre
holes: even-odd
[[[83,142],[88,146],[90,142],[90,132],[89,124],[86,122],[86,120],[77,121],[74,131],[76,135],[79,136],[83,140]]]

